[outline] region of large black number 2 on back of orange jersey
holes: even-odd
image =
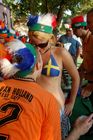
[[[10,109],[11,111],[8,113],[8,110]],[[6,124],[17,121],[22,111],[22,107],[16,102],[7,102],[2,104],[0,106],[0,114],[4,114],[4,116],[0,117],[0,128]],[[8,140],[8,138],[8,135],[0,133],[0,140]]]

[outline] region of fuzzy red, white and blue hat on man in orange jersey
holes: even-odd
[[[34,72],[38,63],[37,50],[31,44],[23,44],[21,41],[14,39],[5,44],[11,59],[2,58],[0,61],[1,71],[5,77],[16,75],[25,77]],[[38,68],[36,67],[35,70]]]

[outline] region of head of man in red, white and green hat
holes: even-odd
[[[71,19],[73,32],[77,37],[82,37],[83,30],[87,26],[83,16],[76,16]]]

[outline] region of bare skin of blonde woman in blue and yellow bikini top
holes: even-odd
[[[46,33],[42,33],[42,34],[43,34],[42,35],[43,37],[46,36]],[[45,40],[44,38],[42,39],[42,37],[40,37],[40,36],[33,37],[33,35],[31,35],[31,33],[29,33],[29,37],[30,37],[31,43],[33,43],[35,45],[38,45],[39,43],[41,43]],[[71,96],[70,96],[68,104],[66,104],[66,107],[65,107],[66,114],[70,115],[72,112],[74,103],[75,103],[76,93],[77,93],[78,86],[79,86],[79,75],[78,75],[76,66],[75,66],[70,54],[63,47],[56,48],[53,45],[53,42],[54,42],[54,41],[52,42],[53,36],[51,36],[49,38],[49,35],[48,35],[48,38],[46,39],[46,41],[47,40],[48,40],[49,44],[44,49],[37,47],[41,53],[41,56],[43,59],[43,65],[45,65],[49,61],[50,54],[52,53],[60,68],[60,75],[57,77],[48,77],[48,76],[41,75],[40,78],[38,79],[38,83],[42,87],[44,87],[46,90],[48,90],[51,94],[54,95],[54,97],[57,99],[57,101],[59,103],[60,110],[62,108],[64,108],[65,98],[64,98],[63,91],[61,89],[61,77],[62,77],[62,69],[63,69],[63,65],[64,65],[65,69],[67,69],[68,73],[72,77]],[[52,45],[50,45],[51,43],[52,43]],[[46,50],[48,50],[48,51],[46,52]]]

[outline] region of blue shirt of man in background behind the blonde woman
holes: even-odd
[[[77,49],[81,46],[78,40],[74,39],[73,37],[68,37],[66,34],[62,35],[59,38],[59,42],[63,44],[71,43],[71,46],[68,51],[72,56],[76,56]]]

